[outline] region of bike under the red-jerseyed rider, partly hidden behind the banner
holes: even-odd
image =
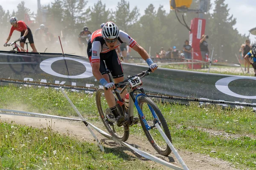
[[[21,52],[20,49],[24,50],[25,52],[29,52],[28,50],[28,44],[29,42],[25,42],[26,44],[26,50],[22,48],[20,45],[18,45],[16,42],[20,41],[20,38],[7,44],[6,47],[12,46],[12,50],[10,51],[19,51]],[[33,51],[31,51],[33,52]],[[7,56],[7,62],[9,62],[9,66],[12,69],[12,71],[15,72],[15,74],[20,74],[22,71],[24,71],[24,65],[27,65],[28,67],[31,67],[33,70],[35,70],[35,67],[37,65],[36,62],[36,57],[31,57],[31,56],[20,56],[20,55],[14,55],[14,54],[9,54]]]

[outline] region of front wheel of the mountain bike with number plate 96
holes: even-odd
[[[166,136],[168,137],[170,142],[172,142],[172,137],[171,137],[171,134],[170,134],[170,130],[168,128],[166,120],[163,117],[163,114],[161,113],[161,111],[159,110],[157,105],[150,98],[148,98],[146,96],[138,97],[138,104],[139,104],[140,109],[142,110],[142,112],[145,116],[145,120],[147,121],[148,125],[150,127],[153,126],[153,128],[148,130],[145,127],[145,124],[143,123],[143,120],[139,115],[140,124],[141,124],[141,126],[144,130],[145,135],[148,138],[148,141],[151,143],[152,147],[154,147],[154,149],[158,153],[160,153],[163,156],[168,156],[172,152],[172,150],[166,144],[165,140],[163,139],[163,136],[160,134],[157,127],[154,126],[154,117],[153,117],[153,114],[150,111],[150,108],[148,106],[150,106],[152,108],[152,110],[154,110],[154,112],[157,115],[157,119],[160,122],[160,127],[162,128],[162,130],[164,131],[164,133],[166,134]]]

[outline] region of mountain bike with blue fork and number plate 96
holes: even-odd
[[[148,138],[148,141],[151,143],[152,147],[163,156],[168,156],[172,150],[166,144],[165,140],[161,136],[160,132],[156,128],[158,123],[163,129],[164,133],[172,142],[171,134],[166,123],[166,120],[163,117],[160,109],[157,105],[146,96],[143,88],[139,88],[142,85],[141,79],[147,76],[151,72],[150,69],[143,71],[140,74],[135,76],[128,76],[128,79],[125,79],[122,82],[115,84],[116,89],[113,90],[113,94],[116,100],[116,107],[120,115],[125,117],[125,123],[123,126],[118,127],[114,119],[111,110],[108,107],[108,104],[105,100],[104,89],[99,88],[96,91],[96,105],[99,111],[99,115],[102,119],[103,124],[107,128],[108,132],[118,140],[125,142],[129,137],[129,127],[134,125],[134,105],[138,111],[140,124],[143,128],[143,131]],[[110,81],[113,82],[110,72],[107,71]],[[117,88],[122,88],[120,91]],[[120,94],[122,94],[125,89],[129,93],[129,107],[125,108],[124,101],[122,100]],[[107,89],[106,89],[107,90]],[[135,92],[139,92],[135,96]]]

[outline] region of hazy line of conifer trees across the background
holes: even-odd
[[[191,8],[197,9],[198,3],[199,0],[193,0]],[[175,11],[167,12],[161,5],[155,8],[150,4],[141,17],[139,17],[138,8],[135,7],[131,10],[129,2],[126,0],[116,2],[116,8],[111,11],[106,9],[102,0],[98,0],[92,7],[86,5],[87,1],[85,0],[55,0],[42,7],[47,9],[45,25],[56,36],[60,35],[62,31],[65,37],[69,37],[68,40],[73,41],[77,40],[83,26],[88,26],[90,31],[95,31],[100,28],[101,23],[113,20],[121,30],[127,31],[131,37],[134,37],[146,51],[149,52],[149,47],[151,47],[152,56],[155,52],[159,52],[161,47],[166,50],[176,46],[181,50],[184,40],[189,39],[189,30],[178,22]],[[224,0],[215,0],[214,3],[209,4],[208,8],[214,8],[212,13],[208,10],[204,15],[207,22],[205,33],[209,35],[207,41],[210,51],[214,47],[215,58],[236,61],[234,54],[247,37],[239,34],[237,29],[233,28],[236,19],[230,16]],[[13,11],[12,13],[12,16],[17,15],[19,20],[24,20],[26,13],[32,14],[25,7],[23,1],[17,6],[17,12]],[[182,13],[177,15],[182,21]],[[2,16],[0,24],[4,27],[4,20],[8,20],[11,15],[9,11],[5,12],[0,6],[0,16]],[[185,21],[188,26],[195,17],[198,17],[198,14],[186,14]],[[36,22],[38,26],[41,24],[37,18]],[[131,55],[137,57],[138,54],[131,52]]]

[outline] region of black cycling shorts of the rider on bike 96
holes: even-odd
[[[92,56],[91,53],[92,52],[89,51],[88,49],[90,49],[90,48],[87,48],[87,54],[89,56],[90,63],[91,63],[91,56]],[[112,75],[113,79],[124,76],[124,72],[123,72],[123,69],[122,69],[122,64],[121,64],[121,62],[120,62],[120,60],[119,60],[119,58],[116,54],[116,50],[111,50],[107,53],[101,53],[100,54],[99,71],[101,72],[102,75],[107,74],[106,66],[107,66],[108,70],[111,72],[111,75]]]

